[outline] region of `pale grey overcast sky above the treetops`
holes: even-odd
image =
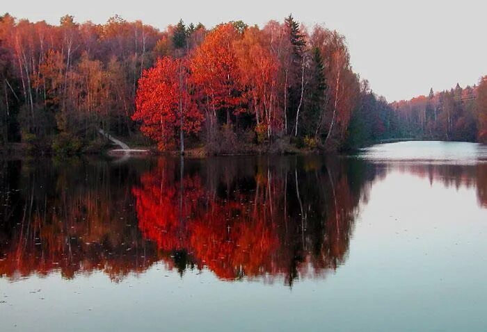
[[[485,0],[17,0],[0,11],[57,24],[67,13],[77,22],[104,23],[118,14],[166,28],[182,18],[207,27],[242,19],[263,25],[292,13],[312,26],[325,24],[346,36],[353,68],[389,101],[473,85],[487,74]]]

